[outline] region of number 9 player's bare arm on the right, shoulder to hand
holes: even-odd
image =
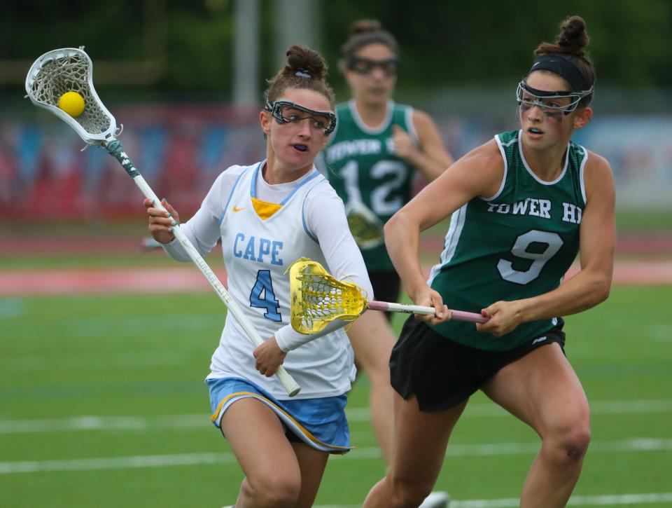
[[[579,233],[580,272],[548,293],[493,303],[486,308],[491,319],[477,324],[479,331],[501,336],[523,322],[580,313],[608,297],[616,238],[614,181],[609,163],[594,153],[584,174],[587,203]]]

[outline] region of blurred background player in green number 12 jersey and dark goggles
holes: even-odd
[[[383,224],[411,198],[416,171],[427,181],[453,158],[433,120],[395,104],[398,46],[377,21],[359,21],[342,46],[341,68],[352,99],[337,105],[338,125],[324,153],[330,184],[346,203],[378,300],[396,301],[400,280],[383,241]],[[381,313],[366,313],[349,329],[355,359],[372,384],[374,430],[391,456],[392,390],[388,360],[395,336]]]

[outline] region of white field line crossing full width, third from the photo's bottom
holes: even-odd
[[[592,401],[593,415],[672,413],[672,399]],[[368,408],[346,410],[351,423],[370,418]],[[160,428],[209,427],[206,413],[165,416],[76,416],[49,420],[0,420],[0,434],[68,432],[84,430],[148,430]],[[500,418],[508,413],[496,404],[467,406],[462,418]]]

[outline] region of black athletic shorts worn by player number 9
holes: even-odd
[[[442,411],[468,399],[503,366],[542,345],[559,343],[564,352],[564,321],[545,334],[508,351],[470,348],[437,334],[410,316],[390,357],[392,387],[404,399],[414,394],[420,411]]]

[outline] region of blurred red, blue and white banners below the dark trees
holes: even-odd
[[[216,105],[157,106],[118,107],[116,116],[127,125],[121,135],[125,149],[148,183],[190,214],[221,171],[265,157],[255,113],[240,120]],[[494,132],[516,128],[505,120],[435,119],[457,156]],[[610,161],[620,208],[672,212],[672,118],[597,116],[574,140]],[[137,214],[141,195],[117,161],[94,146],[81,151],[83,146],[70,128],[48,116],[0,123],[0,213],[14,219]]]

